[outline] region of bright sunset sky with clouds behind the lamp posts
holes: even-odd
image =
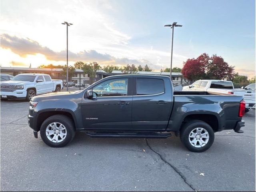
[[[154,71],[202,53],[255,75],[255,0],[1,0],[1,66],[98,62],[148,64]]]

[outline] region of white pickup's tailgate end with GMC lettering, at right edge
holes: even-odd
[[[252,109],[255,109],[255,83],[249,84],[241,89],[234,89],[234,94],[244,97],[244,101],[246,102],[246,113]]]

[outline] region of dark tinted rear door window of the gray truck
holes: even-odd
[[[137,95],[154,95],[164,93],[164,81],[154,78],[137,78]]]

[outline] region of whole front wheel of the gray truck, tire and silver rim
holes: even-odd
[[[42,123],[40,136],[44,143],[50,147],[64,147],[75,136],[74,124],[67,116],[51,116]]]

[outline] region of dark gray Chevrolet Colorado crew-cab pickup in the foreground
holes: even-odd
[[[35,96],[28,124],[51,147],[66,146],[76,131],[96,138],[168,138],[174,132],[192,152],[214,142],[214,132],[240,130],[242,96],[174,92],[170,78],[119,75],[82,91]]]

